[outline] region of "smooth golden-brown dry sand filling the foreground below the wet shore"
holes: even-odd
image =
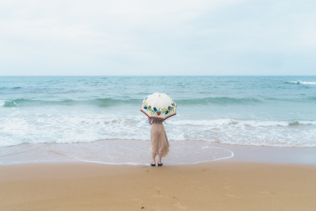
[[[316,210],[316,166],[1,165],[0,210]]]

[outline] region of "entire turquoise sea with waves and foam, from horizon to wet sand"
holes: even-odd
[[[177,103],[169,140],[316,146],[315,76],[0,77],[0,146],[149,140],[155,92]]]

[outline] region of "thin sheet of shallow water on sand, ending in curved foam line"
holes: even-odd
[[[170,141],[170,155],[163,164],[194,164],[225,158],[234,153],[206,141]],[[148,165],[149,140],[98,140],[90,143],[21,144],[0,147],[0,164],[86,161],[103,164]]]

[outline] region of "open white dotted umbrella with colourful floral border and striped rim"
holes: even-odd
[[[150,119],[166,120],[177,115],[177,105],[171,97],[156,92],[143,100],[140,111]]]

